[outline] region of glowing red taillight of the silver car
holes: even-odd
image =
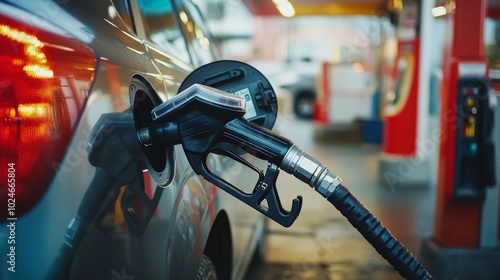
[[[49,23],[37,27],[0,12],[0,65],[0,194],[15,206],[0,209],[4,220],[46,192],[87,100],[96,58]]]

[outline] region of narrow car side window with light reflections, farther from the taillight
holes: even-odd
[[[196,65],[203,65],[215,59],[213,39],[205,21],[192,0],[175,0],[179,10],[186,39],[193,52]]]

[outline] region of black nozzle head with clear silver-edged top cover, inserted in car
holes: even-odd
[[[176,145],[186,139],[184,141],[189,141],[190,146],[195,145],[193,149],[204,152],[207,149],[205,146],[211,145],[203,143],[205,140],[213,138],[210,136],[220,131],[225,123],[243,116],[245,112],[245,103],[241,98],[194,84],[154,108],[151,112],[152,123],[138,129],[137,137],[144,146]]]

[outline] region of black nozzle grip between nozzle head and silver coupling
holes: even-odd
[[[292,141],[262,126],[237,118],[228,122],[221,142],[229,142],[248,153],[280,166]]]

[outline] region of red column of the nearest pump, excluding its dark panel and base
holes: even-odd
[[[445,247],[478,247],[482,199],[453,197],[459,65],[487,65],[484,54],[486,0],[456,0],[447,16],[441,89],[441,141],[434,238]],[[485,67],[484,76],[487,76]],[[463,73],[462,73],[463,74]]]

